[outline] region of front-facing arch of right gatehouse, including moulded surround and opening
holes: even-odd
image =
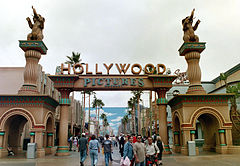
[[[197,138],[198,141],[198,138],[203,138],[203,151],[220,152],[218,150],[220,147],[227,146],[228,137],[225,129],[228,127],[224,126],[226,124],[224,117],[217,109],[212,107],[197,109],[193,112],[190,123],[193,126],[190,132],[191,140]],[[202,136],[199,136],[200,133]]]

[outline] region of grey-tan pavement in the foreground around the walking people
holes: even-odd
[[[119,166],[120,154],[118,148],[114,148],[113,161],[109,166]],[[79,166],[79,152],[71,152],[70,156],[46,156],[44,158],[26,159],[25,157],[10,156],[0,159],[0,166]],[[88,156],[85,166],[91,166]],[[240,166],[240,155],[216,154],[202,152],[199,156],[183,156],[171,154],[163,156],[163,165],[166,166]],[[104,166],[104,155],[99,153],[97,166]]]

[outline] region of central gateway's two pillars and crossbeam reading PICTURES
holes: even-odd
[[[125,65],[124,65],[125,66]],[[65,69],[68,75],[63,74]],[[130,90],[150,90],[156,91],[158,95],[157,105],[159,111],[159,135],[165,144],[165,152],[170,154],[170,147],[168,145],[167,133],[167,100],[166,92],[172,87],[172,82],[176,78],[173,75],[163,75],[159,73],[156,75],[134,75],[125,74],[121,75],[107,75],[92,73],[86,75],[70,75],[69,67],[63,68],[61,75],[48,76],[53,82],[54,87],[61,93],[60,99],[60,124],[59,124],[59,146],[56,155],[65,156],[69,155],[68,152],[68,110],[70,105],[69,94],[72,91],[130,91]],[[159,130],[159,131],[160,131]]]

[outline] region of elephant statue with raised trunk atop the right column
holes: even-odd
[[[194,34],[194,31],[197,29],[198,24],[200,23],[200,20],[197,20],[194,27],[192,26],[193,19],[194,19],[193,18],[194,11],[195,9],[193,9],[190,16],[182,20],[183,31],[184,31],[184,35],[183,35],[184,42],[199,42],[199,38],[197,35]]]

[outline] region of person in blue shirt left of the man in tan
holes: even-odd
[[[130,166],[134,165],[134,154],[133,154],[133,137],[128,136],[128,142],[125,143],[124,145],[124,150],[123,150],[123,160],[128,157],[131,164]]]

